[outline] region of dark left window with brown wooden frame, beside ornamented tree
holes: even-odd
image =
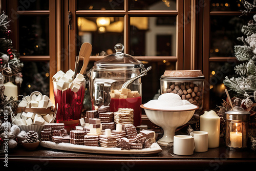
[[[11,19],[13,48],[24,63],[19,94],[40,91],[50,96],[50,78],[56,72],[51,64],[55,60],[55,2],[2,1],[2,10]]]

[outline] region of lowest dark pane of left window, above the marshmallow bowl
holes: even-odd
[[[49,62],[23,62],[23,82],[20,94],[27,96],[34,91],[49,97]]]

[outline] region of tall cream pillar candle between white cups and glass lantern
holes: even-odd
[[[220,120],[215,111],[205,111],[200,116],[200,131],[208,133],[208,148],[216,148],[220,145]]]

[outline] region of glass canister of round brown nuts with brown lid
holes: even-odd
[[[160,78],[160,92],[175,93],[203,108],[204,75],[201,70],[166,70]]]

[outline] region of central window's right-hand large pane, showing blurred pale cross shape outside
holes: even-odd
[[[131,17],[131,55],[176,56],[176,17]]]

